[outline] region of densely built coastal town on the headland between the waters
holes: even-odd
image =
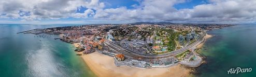
[[[105,24],[34,29],[21,33],[59,34],[61,41],[79,43],[75,51],[112,56],[116,66],[138,68],[197,67],[202,58],[195,52],[206,31],[231,24]]]

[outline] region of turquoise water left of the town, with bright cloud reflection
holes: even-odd
[[[17,32],[68,25],[0,25],[1,76],[95,76],[71,44]],[[46,34],[45,34],[46,35]]]

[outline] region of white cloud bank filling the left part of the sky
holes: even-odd
[[[0,14],[6,14],[1,17],[24,18],[25,20],[59,19],[79,16],[74,14],[81,6],[90,9],[83,14],[93,14],[91,9],[102,9],[104,3],[98,0],[2,0],[0,1]],[[21,17],[20,11],[30,12],[30,16]]]

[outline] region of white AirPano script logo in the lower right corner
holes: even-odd
[[[252,68],[240,68],[237,67],[235,68],[231,68],[229,71],[227,71],[227,74],[238,74],[238,73],[245,73],[245,72],[251,72]]]

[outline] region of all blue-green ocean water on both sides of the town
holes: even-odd
[[[0,25],[1,76],[95,76],[71,44],[54,40],[58,35],[17,34],[59,26],[70,25]],[[256,75],[256,25],[237,25],[207,33],[214,35],[200,50],[207,63],[196,68],[195,76]],[[237,67],[252,71],[227,74]]]

